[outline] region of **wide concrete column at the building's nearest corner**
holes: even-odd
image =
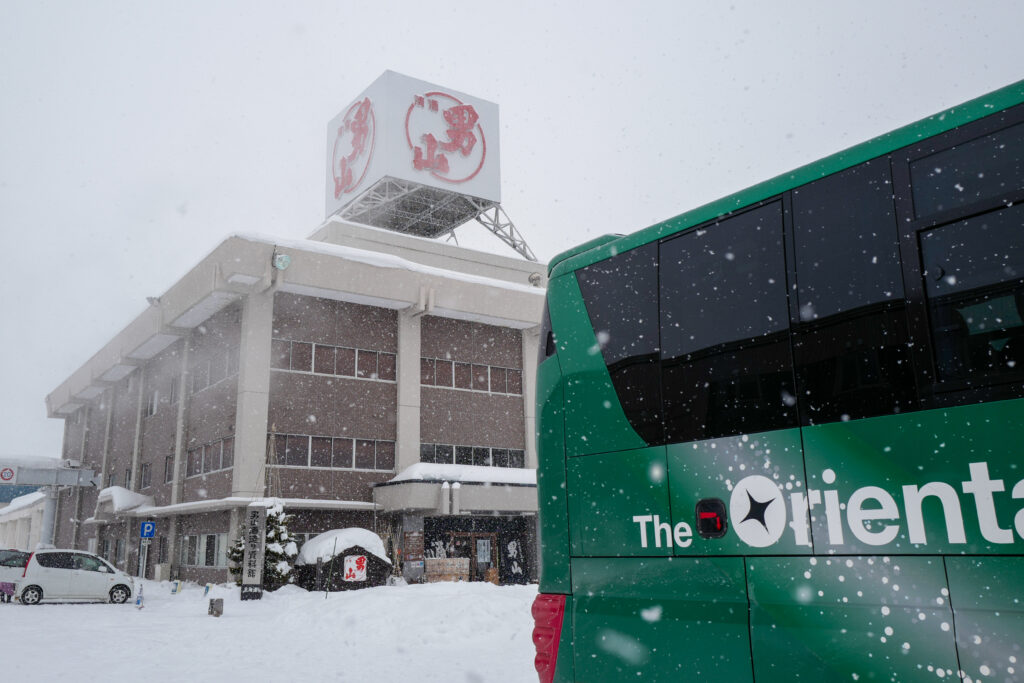
[[[234,413],[231,496],[236,497],[262,498],[265,489],[272,335],[273,290],[248,295],[242,305],[239,394]]]

